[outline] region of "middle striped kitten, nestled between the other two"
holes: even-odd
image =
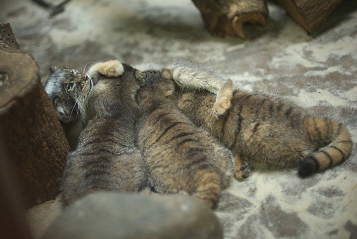
[[[173,81],[159,72],[144,73],[146,85],[137,94],[138,145],[148,185],[158,193],[187,193],[213,208],[233,174],[231,152],[166,98],[175,89]]]

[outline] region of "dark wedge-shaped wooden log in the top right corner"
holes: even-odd
[[[315,32],[344,0],[277,0],[309,33]]]

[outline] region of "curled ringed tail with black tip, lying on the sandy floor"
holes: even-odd
[[[299,165],[299,175],[308,176],[316,171],[332,167],[349,157],[352,140],[346,127],[330,118],[309,117],[304,122],[312,142],[321,145]],[[324,146],[324,147],[323,147]]]

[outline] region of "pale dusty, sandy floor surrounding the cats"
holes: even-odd
[[[119,59],[146,66],[186,58],[208,62],[237,87],[288,96],[345,124],[357,142],[357,3],[346,0],[308,35],[278,6],[246,40],[211,36],[189,0],[73,0],[53,19],[29,0],[0,2],[21,48],[33,54],[42,82],[48,67],[84,69]],[[233,181],[215,210],[226,238],[357,237],[357,156],[302,179],[295,169],[255,170]],[[28,211],[35,235],[59,213],[56,201]]]

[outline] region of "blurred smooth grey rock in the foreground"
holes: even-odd
[[[67,207],[43,238],[222,238],[219,219],[184,195],[90,194]]]

